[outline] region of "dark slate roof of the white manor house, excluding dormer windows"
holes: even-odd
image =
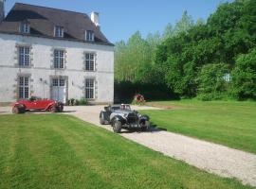
[[[25,21],[30,24],[30,34],[19,32],[21,23]],[[21,3],[16,3],[9,11],[7,17],[0,24],[0,33],[56,39],[53,37],[54,26],[64,27],[64,38],[60,40],[85,43],[85,30],[92,30],[95,33],[95,42],[93,43],[113,45],[84,13]]]

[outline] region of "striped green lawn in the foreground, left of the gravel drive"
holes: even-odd
[[[0,116],[0,188],[249,188],[75,117]]]

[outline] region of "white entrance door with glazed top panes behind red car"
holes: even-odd
[[[64,78],[52,78],[51,96],[56,101],[66,102],[66,83]]]

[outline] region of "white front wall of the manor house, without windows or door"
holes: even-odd
[[[31,67],[19,68],[17,46],[31,48]],[[66,51],[65,69],[56,70],[53,65],[54,49]],[[96,71],[84,71],[84,53],[97,54]],[[30,94],[50,98],[51,77],[67,78],[67,98],[84,97],[85,77],[96,79],[95,103],[112,103],[114,100],[114,47],[92,43],[77,43],[37,37],[0,33],[0,102],[17,99],[17,77],[30,76]]]

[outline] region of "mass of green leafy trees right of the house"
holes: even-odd
[[[255,99],[255,49],[255,0],[223,3],[206,22],[184,11],[162,34],[137,31],[116,44],[116,80],[164,84],[184,97]]]

